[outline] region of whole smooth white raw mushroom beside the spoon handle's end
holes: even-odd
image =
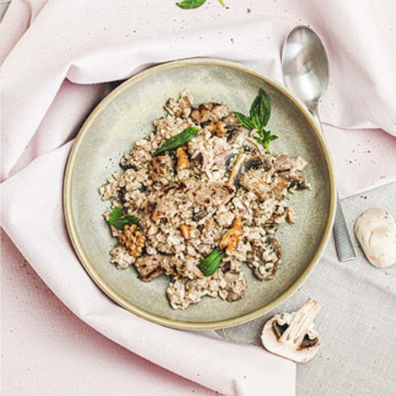
[[[396,223],[388,212],[362,213],[355,222],[355,234],[370,264],[381,268],[396,263]]]

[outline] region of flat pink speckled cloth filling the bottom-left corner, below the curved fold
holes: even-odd
[[[1,395],[219,396],[113,343],[77,318],[3,231],[0,280]]]

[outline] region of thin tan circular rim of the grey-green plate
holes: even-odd
[[[275,89],[281,91],[284,95],[286,95],[297,106],[298,110],[303,114],[303,116],[306,118],[306,120],[314,130],[316,138],[323,150],[327,165],[327,170],[329,172],[329,177],[330,177],[330,210],[327,217],[326,228],[322,235],[319,247],[316,250],[312,260],[305,268],[305,270],[302,272],[302,274],[297,278],[295,283],[292,286],[290,286],[285,292],[283,292],[280,296],[278,296],[273,301],[269,302],[268,304],[264,305],[259,309],[256,309],[244,315],[237,316],[235,318],[211,321],[211,322],[186,322],[186,321],[166,318],[148,312],[145,309],[141,309],[136,305],[134,305],[133,303],[131,303],[130,301],[128,301],[126,298],[119,295],[115,290],[111,288],[111,286],[109,286],[103,280],[103,278],[99,275],[98,271],[95,269],[92,262],[88,259],[85,249],[78,238],[77,230],[72,216],[72,209],[71,209],[71,181],[73,176],[74,163],[78,154],[78,149],[81,146],[84,136],[89,130],[89,126],[99,115],[101,110],[103,110],[103,108],[105,108],[105,106],[108,103],[110,103],[113,99],[115,99],[118,95],[120,95],[124,90],[135,85],[139,81],[148,78],[151,75],[159,73],[163,70],[183,67],[191,64],[222,66],[234,70],[239,70],[244,73],[258,77],[259,79],[265,81],[267,84],[273,86]],[[287,90],[286,87],[281,85],[275,79],[266,76],[264,73],[261,73],[250,66],[220,58],[195,57],[195,58],[179,59],[175,61],[161,63],[133,75],[132,77],[124,81],[122,84],[120,84],[118,87],[116,87],[113,91],[111,91],[103,99],[100,100],[98,105],[91,111],[91,113],[84,121],[83,125],[81,126],[76,136],[76,139],[73,143],[73,146],[70,150],[65,168],[64,179],[63,179],[63,211],[66,221],[67,233],[80,263],[82,264],[88,275],[91,277],[91,279],[95,282],[95,284],[107,297],[111,298],[118,305],[134,313],[135,315],[147,319],[150,322],[154,322],[175,329],[183,329],[183,330],[216,330],[216,329],[224,329],[227,327],[240,325],[250,320],[253,320],[261,315],[264,315],[265,313],[271,311],[279,304],[286,301],[286,299],[291,297],[297,291],[298,287],[301,286],[301,284],[308,278],[310,273],[313,271],[314,267],[319,262],[325,247],[327,246],[334,223],[335,206],[336,206],[335,203],[336,203],[336,183],[335,183],[334,165],[333,165],[331,153],[313,116],[306,108],[306,106],[302,103],[300,99],[297,98],[297,96],[295,96],[292,92]]]

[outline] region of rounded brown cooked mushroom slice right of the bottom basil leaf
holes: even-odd
[[[247,264],[256,278],[262,280],[274,277],[281,262],[282,249],[275,238],[256,240],[253,249],[247,253]]]

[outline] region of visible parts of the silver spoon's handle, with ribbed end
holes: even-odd
[[[319,127],[320,132],[323,135],[323,129],[320,123],[319,114],[317,110],[316,111],[311,110],[311,113],[315,118],[315,121]],[[337,203],[336,203],[336,218],[334,219],[333,233],[334,233],[334,241],[336,243],[336,250],[339,261],[347,261],[355,258],[356,253],[349,236],[347,222],[345,221],[343,208],[341,206],[341,201],[338,192],[337,192]]]

